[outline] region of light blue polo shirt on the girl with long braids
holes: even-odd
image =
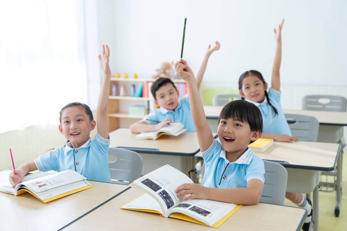
[[[278,112],[278,115],[275,116],[273,108],[268,103],[268,100],[265,97],[264,102],[257,103],[251,100],[246,99],[248,102],[255,104],[259,109],[263,117],[263,132],[273,133],[273,134],[287,134],[291,136],[290,128],[287,123],[287,119],[283,113],[281,107],[281,92],[270,87],[268,92],[269,100],[272,106],[274,106]]]

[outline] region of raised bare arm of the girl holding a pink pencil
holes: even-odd
[[[101,90],[99,94],[98,106],[96,107],[96,124],[98,133],[104,139],[108,139],[108,120],[107,120],[107,103],[110,92],[111,70],[109,66],[110,48],[102,45],[102,56],[99,55],[101,70],[104,72]]]

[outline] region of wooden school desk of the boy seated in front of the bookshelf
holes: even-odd
[[[181,172],[191,172],[196,182],[194,154],[200,151],[196,132],[163,135],[157,140],[134,140],[137,134],[129,128],[119,128],[109,135],[110,147],[128,149],[142,156],[142,175],[169,164]]]

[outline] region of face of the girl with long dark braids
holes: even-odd
[[[268,83],[264,84],[258,77],[249,75],[242,81],[240,95],[243,98],[262,103],[265,99],[266,89],[268,89]]]

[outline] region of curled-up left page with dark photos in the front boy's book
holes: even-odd
[[[151,194],[159,203],[162,215],[167,217],[166,211],[171,207],[175,207],[183,201],[184,197],[188,196],[176,196],[175,190],[181,184],[193,184],[193,181],[183,172],[170,165],[165,165],[134,180],[129,186]]]

